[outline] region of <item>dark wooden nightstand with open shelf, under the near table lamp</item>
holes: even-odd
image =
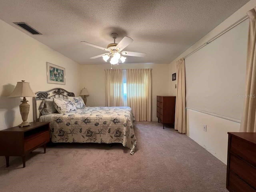
[[[21,156],[26,166],[26,154],[50,141],[50,122],[30,122],[30,126],[12,127],[0,131],[0,156],[5,156],[6,167],[10,156]]]

